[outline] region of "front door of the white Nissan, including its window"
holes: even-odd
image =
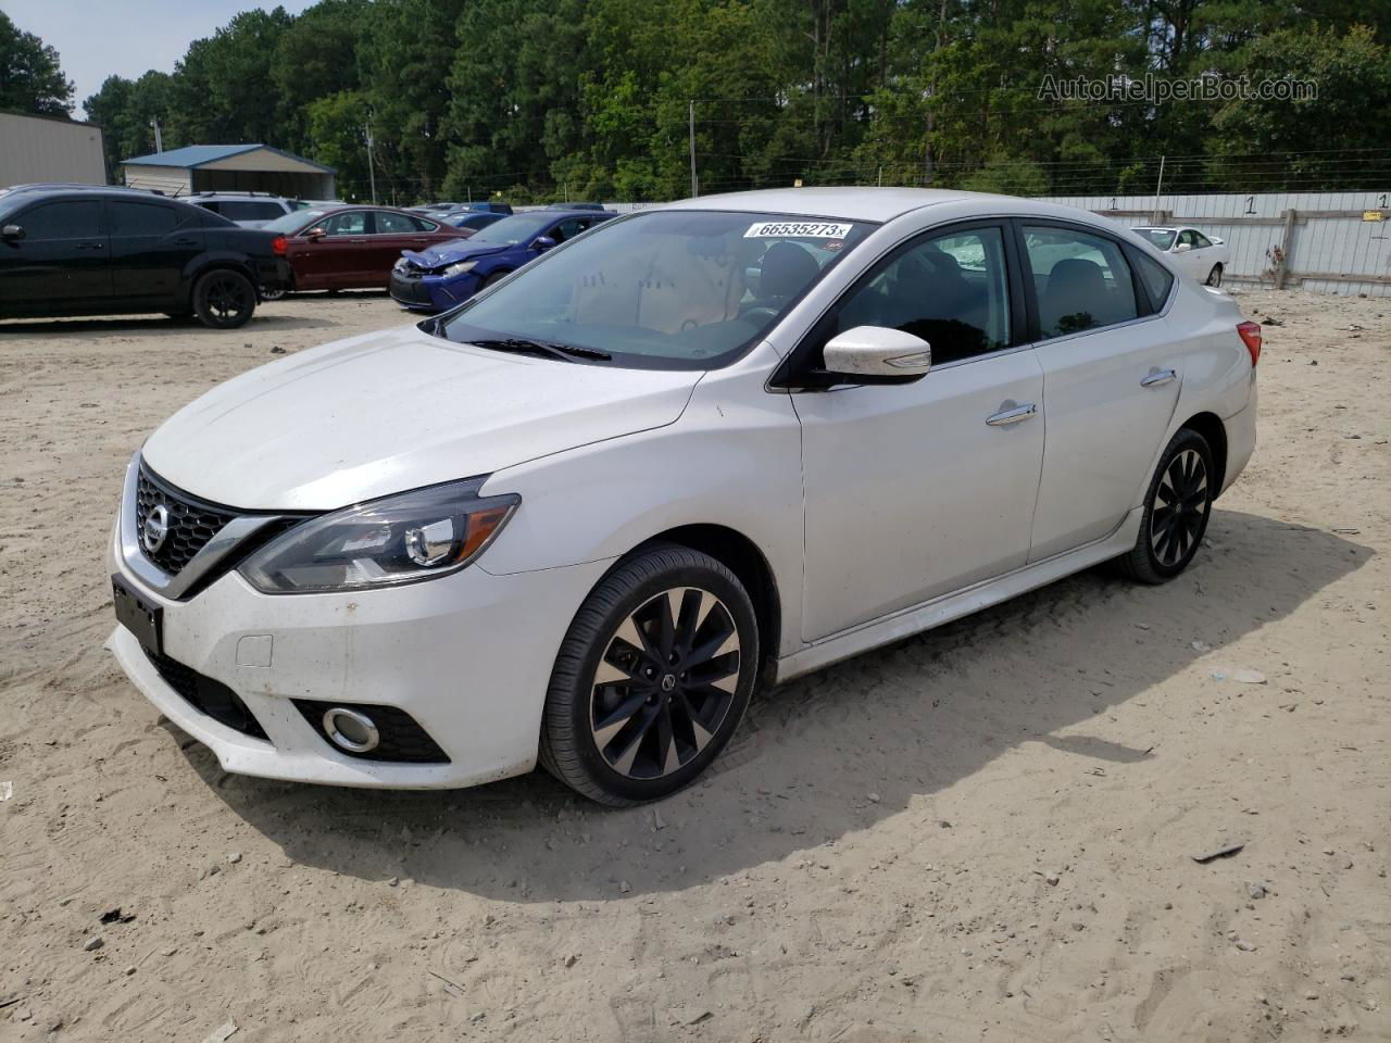
[[[1021,345],[1004,229],[929,232],[869,270],[812,337],[904,330],[932,370],[793,396],[803,426],[807,641],[1027,560],[1043,374]]]

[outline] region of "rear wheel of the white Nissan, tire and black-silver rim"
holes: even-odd
[[[1121,572],[1139,583],[1168,583],[1188,567],[1203,542],[1220,477],[1213,452],[1196,431],[1180,428],[1160,458],[1145,494],[1135,547],[1117,559]],[[1178,503],[1175,516],[1173,503]]]

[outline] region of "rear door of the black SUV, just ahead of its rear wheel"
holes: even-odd
[[[172,305],[189,261],[203,252],[203,229],[185,207],[156,199],[106,200],[111,291],[117,298]]]

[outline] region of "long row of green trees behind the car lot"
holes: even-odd
[[[111,78],[86,106],[113,160],[147,152],[159,118],[168,147],[303,152],[348,197],[370,191],[370,127],[378,196],[399,203],[683,196],[693,108],[702,193],[1121,195],[1153,191],[1161,154],[1175,192],[1342,186],[1330,150],[1381,149],[1391,172],[1388,31],[1391,0],[320,0],[239,14],[171,76]],[[1045,76],[1146,75],[1320,93],[1039,96]]]

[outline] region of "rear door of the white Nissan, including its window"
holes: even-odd
[[[1178,405],[1178,343],[1107,235],[1021,225],[1038,300],[1047,451],[1029,560],[1110,534],[1141,502]],[[1136,263],[1146,259],[1136,254]],[[1152,264],[1152,261],[1149,261]],[[1168,280],[1157,264],[1160,281]]]

